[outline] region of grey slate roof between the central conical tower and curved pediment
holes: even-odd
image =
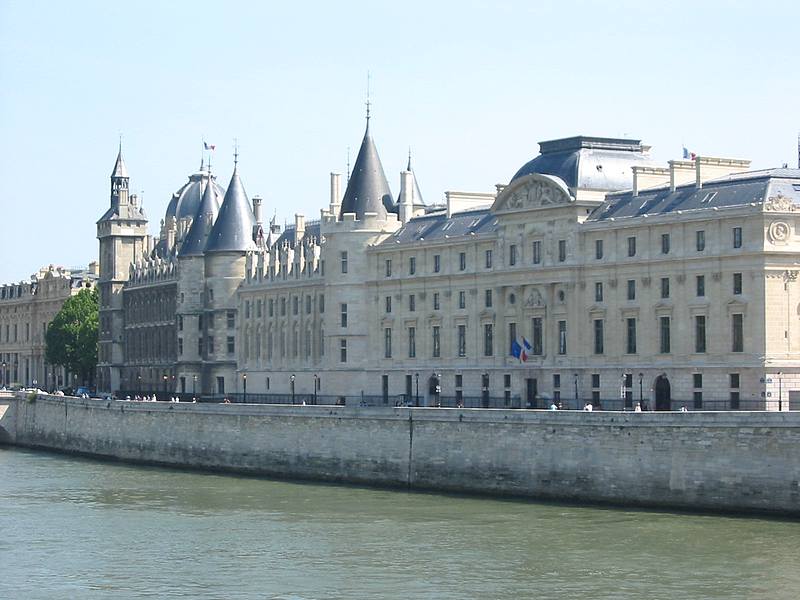
[[[497,217],[488,208],[455,213],[447,218],[445,211],[431,213],[411,219],[380,246],[411,244],[419,241],[434,241],[482,235],[497,231]]]

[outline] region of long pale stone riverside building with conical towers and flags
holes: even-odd
[[[630,139],[539,146],[493,193],[427,203],[410,160],[392,193],[368,118],[318,220],[264,223],[237,161],[226,187],[201,165],[157,237],[120,150],[97,223],[99,391],[656,410],[800,399],[800,170],[659,166]]]

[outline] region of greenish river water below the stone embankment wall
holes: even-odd
[[[800,598],[800,523],[0,448],[0,598]]]

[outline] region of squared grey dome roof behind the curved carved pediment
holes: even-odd
[[[571,189],[617,191],[633,186],[633,166],[651,165],[641,140],[576,136],[539,142],[541,154],[511,181],[540,173],[559,177]]]

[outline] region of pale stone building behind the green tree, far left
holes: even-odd
[[[45,334],[67,298],[96,285],[97,268],[97,263],[72,271],[50,265],[30,281],[0,286],[0,387],[56,390],[80,383],[47,363]]]

